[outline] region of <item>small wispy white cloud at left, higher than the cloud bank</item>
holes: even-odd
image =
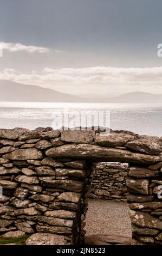
[[[20,43],[12,43],[12,42],[0,42],[0,47],[3,50],[8,50],[9,52],[20,52],[20,51],[25,51],[25,52],[30,52],[30,53],[47,53],[49,52],[48,48],[45,47],[39,47],[39,46],[34,46],[34,45],[22,45]]]

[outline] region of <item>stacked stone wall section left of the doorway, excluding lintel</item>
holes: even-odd
[[[60,131],[50,128],[1,130],[0,137],[0,234],[21,230],[55,234],[56,244],[82,241],[86,161],[46,156],[47,149],[64,144]]]

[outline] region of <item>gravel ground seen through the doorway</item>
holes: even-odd
[[[88,200],[86,235],[118,233],[131,235],[131,220],[126,203],[108,200]]]

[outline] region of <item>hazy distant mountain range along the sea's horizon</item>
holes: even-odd
[[[0,101],[26,102],[96,102],[96,103],[162,103],[162,94],[126,93],[114,97],[88,98],[60,93],[53,89],[0,80]]]

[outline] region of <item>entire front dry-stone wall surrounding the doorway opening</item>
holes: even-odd
[[[0,234],[21,230],[52,233],[56,245],[84,242],[93,163],[113,161],[129,163],[133,243],[161,244],[161,141],[128,131],[0,129]]]

